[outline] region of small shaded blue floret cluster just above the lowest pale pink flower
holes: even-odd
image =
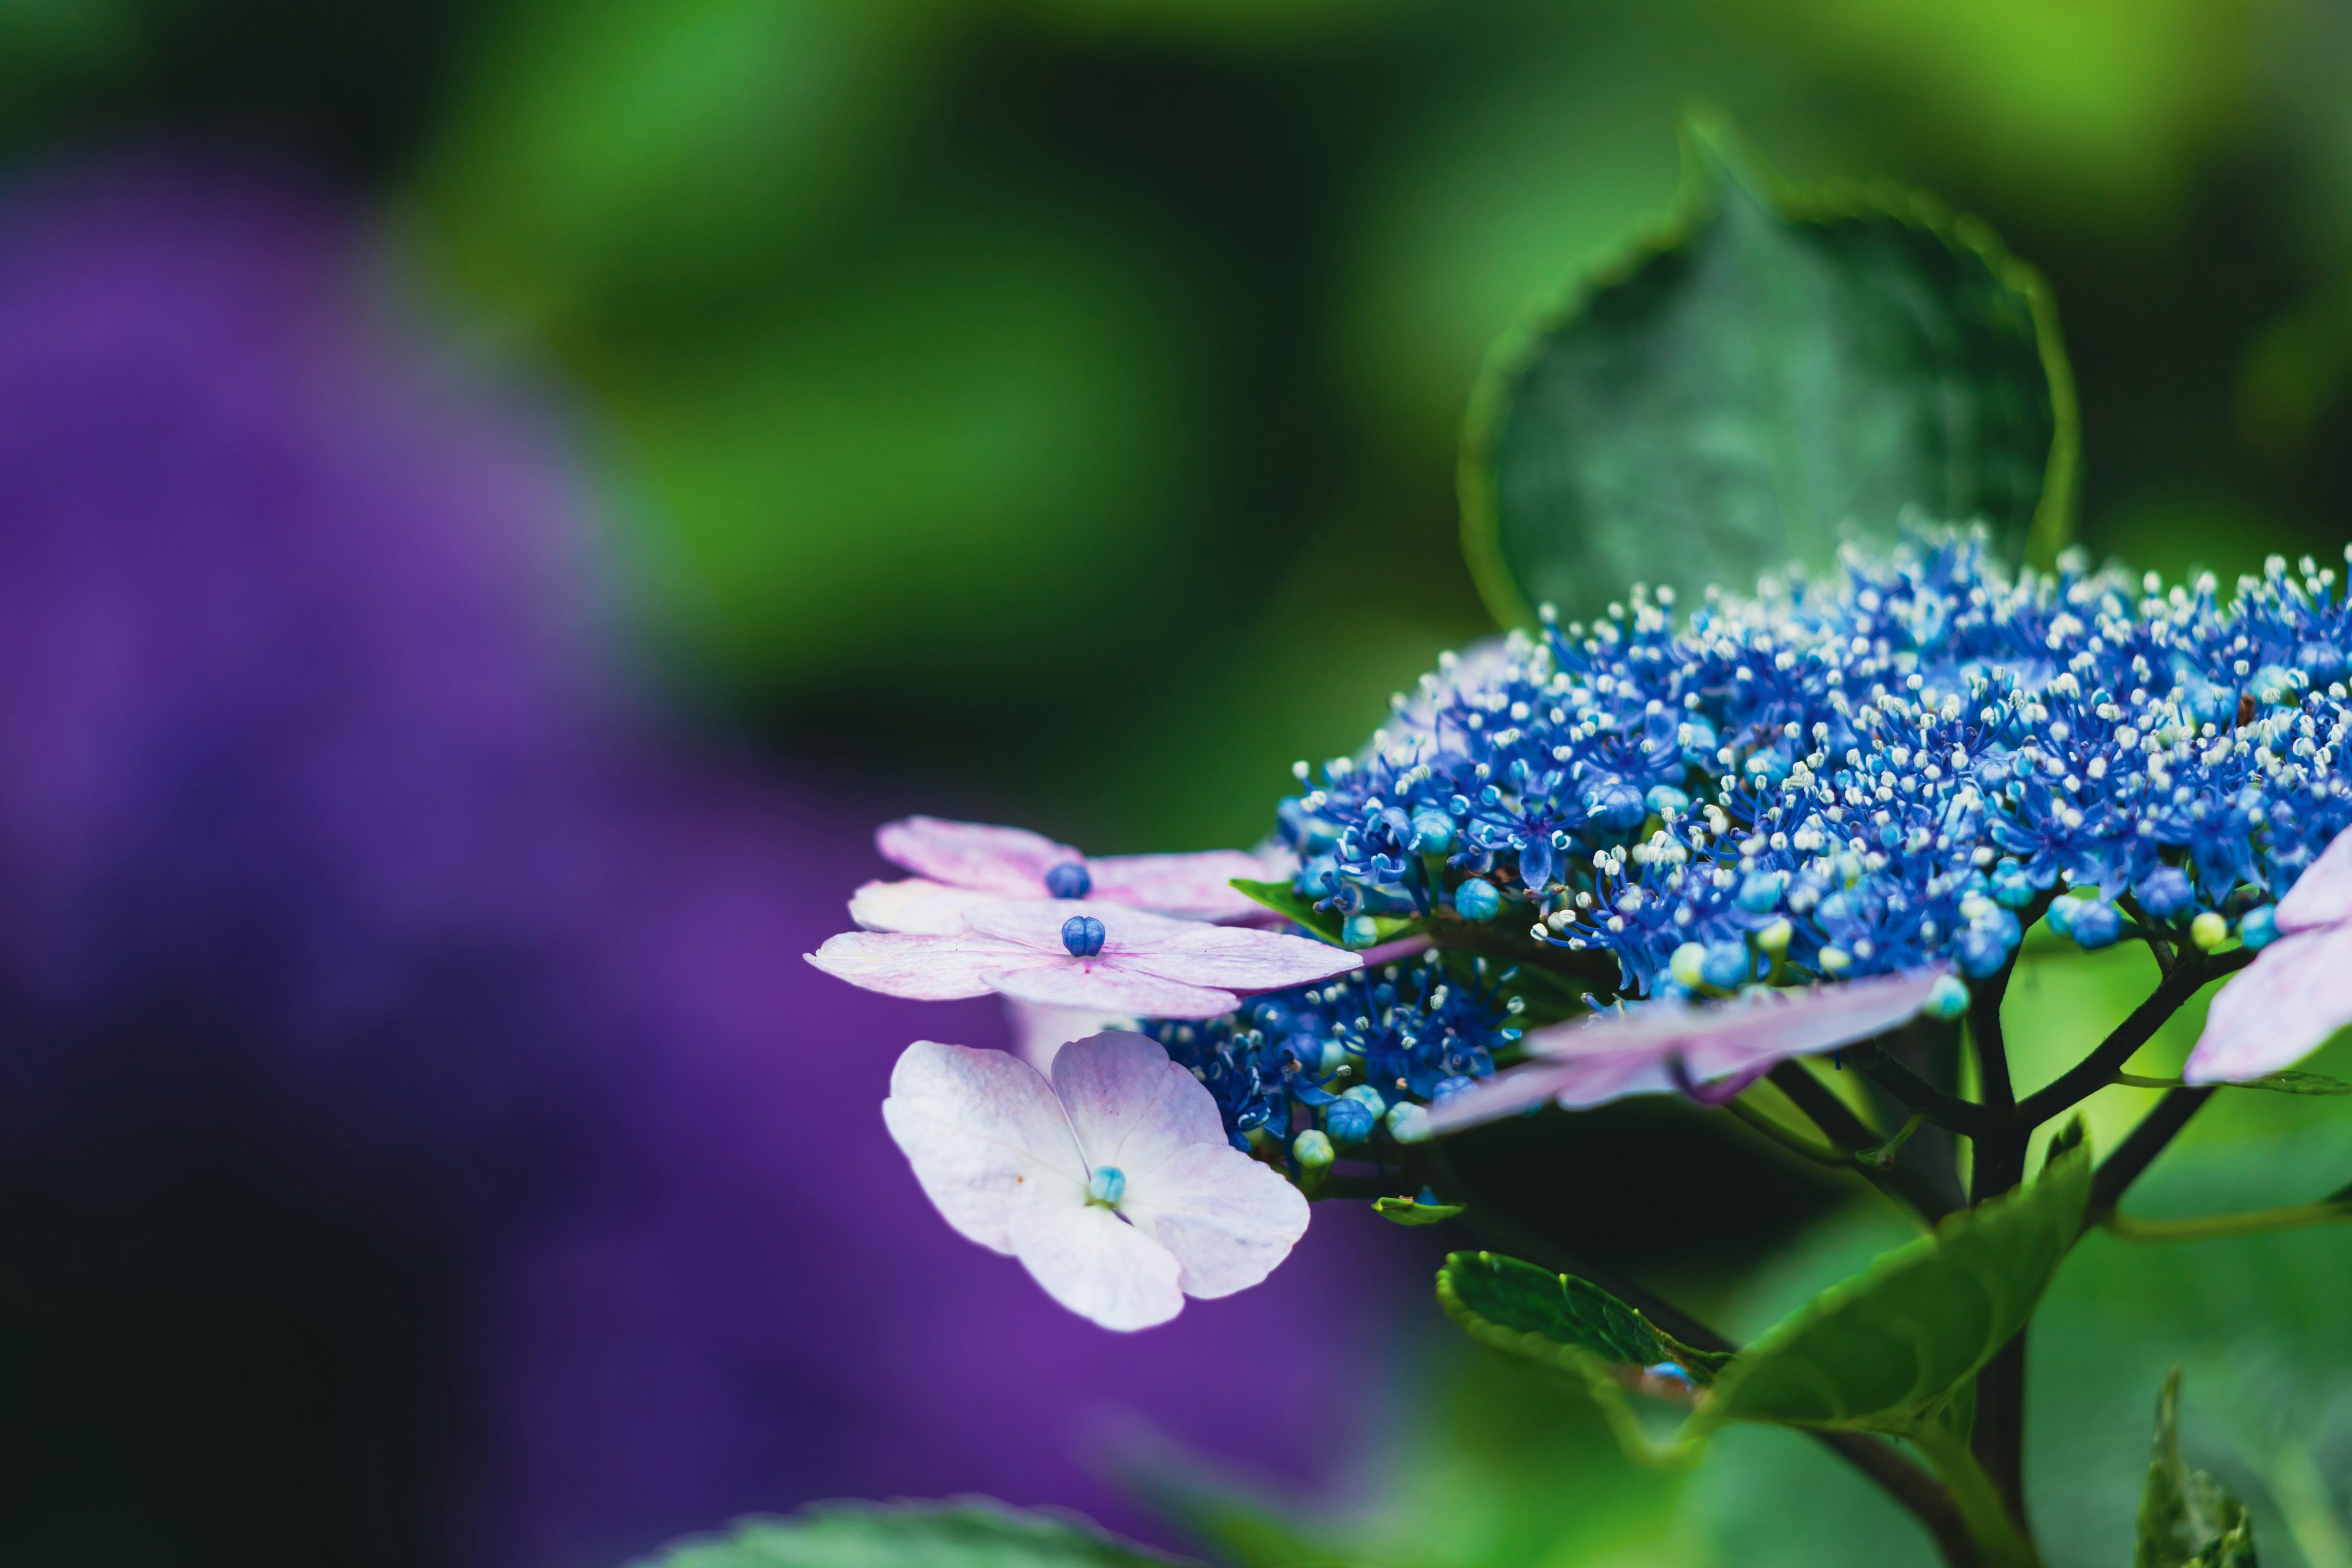
[[[1519,1039],[1508,978],[1489,983],[1484,961],[1449,966],[1428,952],[1251,997],[1209,1023],[1141,1027],[1207,1084],[1237,1147],[1256,1131],[1289,1138],[1298,1119],[1336,1145],[1362,1145],[1383,1131],[1409,1135],[1421,1105],[1494,1072],[1496,1051]]]

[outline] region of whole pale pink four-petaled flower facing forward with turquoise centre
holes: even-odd
[[[882,1119],[948,1225],[1103,1328],[1247,1291],[1308,1229],[1305,1197],[1230,1147],[1209,1091],[1141,1034],[1063,1046],[1051,1081],[922,1039]]]

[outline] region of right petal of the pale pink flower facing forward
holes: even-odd
[[[1202,1091],[1202,1098],[1209,1093]],[[1209,1114],[1214,1119],[1216,1110]],[[1127,1171],[1120,1213],[1176,1253],[1183,1293],[1204,1300],[1258,1284],[1308,1232],[1308,1201],[1298,1187],[1228,1145],[1223,1133],[1216,1143],[1176,1150],[1150,1171]]]

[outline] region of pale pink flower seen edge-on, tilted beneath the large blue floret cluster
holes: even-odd
[[[1943,966],[1799,992],[1693,1006],[1651,1001],[1526,1034],[1534,1060],[1430,1110],[1428,1133],[1451,1133],[1531,1105],[1569,1110],[1639,1093],[1686,1093],[1722,1105],[1795,1056],[1884,1034],[1922,1011],[1952,1011],[1966,990]]]

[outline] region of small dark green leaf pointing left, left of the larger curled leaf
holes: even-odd
[[[1437,1302],[1472,1340],[1559,1371],[1642,1371],[1672,1361],[1708,1385],[1731,1356],[1691,1349],[1573,1274],[1496,1253],[1454,1253],[1437,1269]]]

